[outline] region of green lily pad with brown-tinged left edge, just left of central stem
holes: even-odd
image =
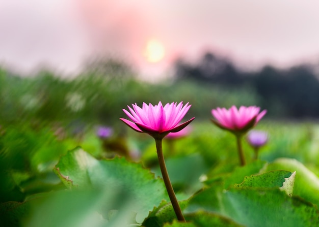
[[[131,212],[136,213],[138,223],[162,200],[169,200],[161,179],[154,178],[140,164],[130,163],[124,158],[97,160],[76,148],[61,157],[54,171],[68,188],[123,190],[133,204]]]

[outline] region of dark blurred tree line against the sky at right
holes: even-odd
[[[244,72],[212,53],[205,53],[196,64],[182,59],[175,62],[176,81],[220,85],[227,89],[249,87],[262,108],[273,117],[319,117],[319,81],[313,66],[300,64],[288,69],[264,66],[257,72]]]

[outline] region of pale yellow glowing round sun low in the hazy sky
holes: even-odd
[[[146,43],[144,56],[149,62],[161,61],[165,56],[165,48],[161,42],[157,40],[149,40]]]

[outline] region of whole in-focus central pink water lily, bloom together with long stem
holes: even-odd
[[[123,111],[131,119],[131,121],[124,118],[120,119],[135,131],[139,133],[147,133],[155,139],[159,168],[161,168],[167,193],[171,200],[177,219],[179,221],[186,222],[176,199],[171,180],[168,176],[163,155],[162,141],[163,138],[169,133],[181,131],[181,129],[186,127],[194,120],[195,117],[182,124],[179,124],[179,122],[191,108],[191,105],[187,103],[185,106],[183,106],[183,103],[180,102],[178,105],[177,103],[168,103],[163,107],[162,103],[159,102],[155,106],[152,104],[146,105],[143,103],[142,108],[140,108],[137,104],[132,104],[133,109],[129,106],[127,107],[130,112],[125,109],[123,109]]]

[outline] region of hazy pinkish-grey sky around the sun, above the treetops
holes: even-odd
[[[0,0],[0,63],[72,73],[108,54],[165,71],[205,50],[248,68],[315,62],[318,10],[317,0]],[[150,39],[165,48],[160,62],[143,56]]]

